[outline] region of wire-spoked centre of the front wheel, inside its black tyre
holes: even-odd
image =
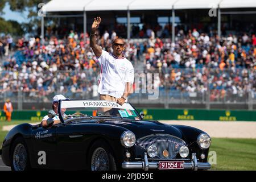
[[[97,148],[92,155],[91,163],[92,171],[108,171],[109,158],[104,148]]]

